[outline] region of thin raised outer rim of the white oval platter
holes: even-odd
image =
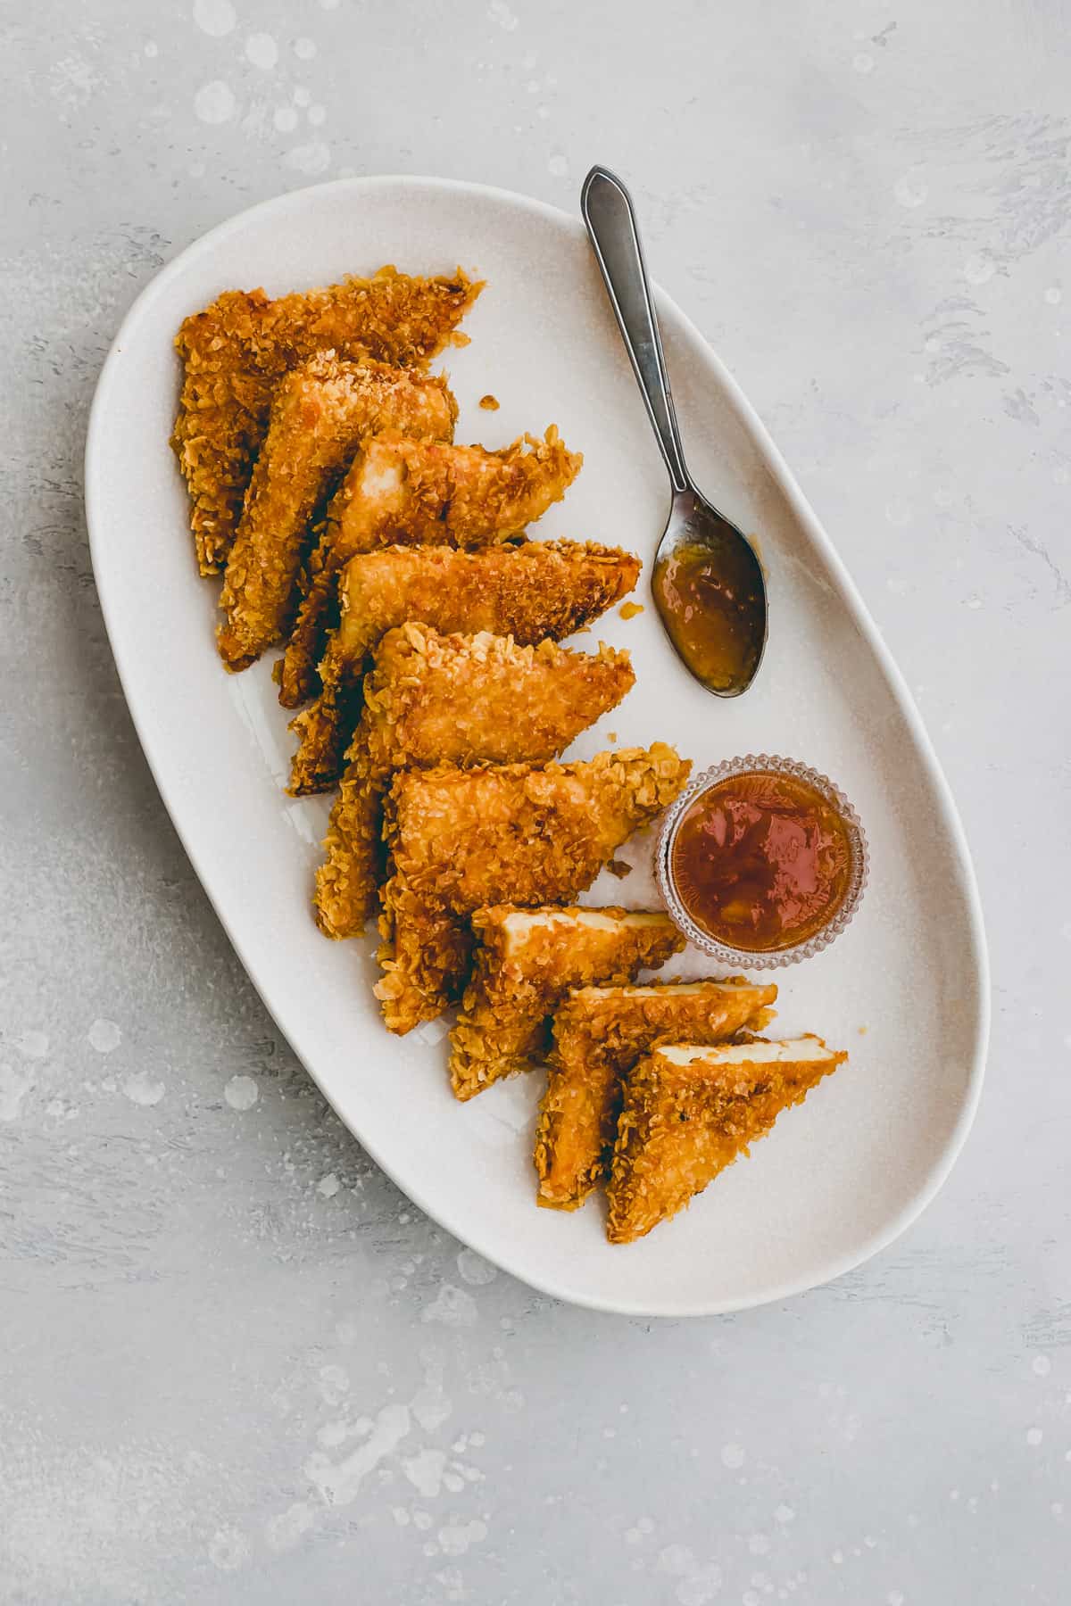
[[[562,1299],[568,1304],[580,1306],[583,1309],[599,1310],[613,1315],[662,1317],[668,1320],[679,1320],[684,1317],[729,1315],[737,1310],[759,1309],[761,1306],[766,1304],[780,1304],[785,1299],[792,1299],[793,1296],[806,1293],[811,1288],[825,1286],[827,1283],[835,1282],[838,1277],[843,1277],[846,1272],[851,1272],[856,1267],[865,1264],[875,1254],[880,1254],[922,1216],[922,1213],[933,1203],[936,1195],[944,1187],[952,1171],[952,1166],[955,1164],[959,1155],[962,1153],[963,1143],[967,1142],[970,1129],[975,1123],[975,1116],[978,1113],[978,1103],[981,1099],[981,1087],[986,1074],[986,1058],[989,1047],[989,1028],[991,1028],[991,1012],[992,1012],[989,954],[986,944],[978,878],[975,874],[970,848],[967,843],[967,835],[963,832],[963,825],[955,801],[952,798],[949,782],[944,776],[944,771],[941,769],[936,752],[933,748],[926,728],[922,721],[922,715],[918,713],[918,708],[915,707],[915,702],[910,695],[904,675],[899,670],[899,665],[896,663],[893,654],[886,647],[885,639],[878,631],[878,626],[870,617],[870,612],[862,596],[859,594],[848,569],[845,567],[843,559],[840,557],[840,552],[837,551],[833,541],[825,533],[825,528],[819,522],[814,511],[811,509],[808,499],[804,498],[800,485],[795,480],[795,475],[792,474],[788,464],[782,458],[777,445],[771,438],[769,430],[763,424],[755,406],[740,389],[737,379],[729,373],[729,369],[726,368],[726,365],[723,363],[721,357],[713,349],[707,336],[697,328],[697,324],[687,316],[687,313],[681,310],[681,307],[673,300],[673,297],[670,297],[660,286],[657,284],[652,286],[657,304],[660,307],[665,307],[670,313],[673,313],[673,316],[676,316],[681,321],[681,326],[684,328],[686,334],[698,345],[702,345],[705,357],[713,365],[718,381],[724,385],[734,408],[737,410],[742,426],[750,434],[756,448],[761,451],[766,467],[771,477],[774,479],[779,491],[785,496],[785,501],[788,503],[793,516],[804,527],[808,538],[816,544],[816,548],[822,552],[825,562],[830,565],[830,570],[833,572],[846,601],[851,605],[853,623],[859,628],[861,634],[867,642],[867,647],[877,658],[888,683],[890,692],[896,699],[899,711],[904,716],[909,734],[922,760],[925,776],[930,785],[933,787],[936,800],[944,814],[944,824],[949,830],[952,846],[959,856],[959,869],[962,874],[965,911],[967,911],[967,930],[970,936],[976,981],[978,981],[976,1009],[971,1023],[973,1044],[975,1044],[973,1060],[970,1063],[967,1086],[960,1102],[960,1110],[946,1139],[944,1150],[938,1163],[930,1169],[925,1184],[915,1190],[915,1193],[906,1201],[906,1204],[894,1216],[891,1216],[880,1230],[870,1233],[870,1237],[864,1240],[864,1243],[856,1249],[837,1256],[827,1262],[821,1262],[817,1270],[812,1269],[804,1275],[784,1278],[777,1286],[766,1290],[761,1294],[761,1298],[742,1296],[735,1299],[732,1298],[715,1299],[715,1301],[707,1299],[698,1304],[689,1304],[687,1301],[676,1304],[670,1301],[658,1301],[657,1304],[652,1304],[650,1301],[642,1301],[642,1299],[617,1299],[617,1298],[601,1298],[597,1294],[586,1294],[583,1290],[564,1286],[562,1283],[556,1285],[552,1280],[546,1277],[540,1275],[533,1277],[527,1274],[523,1269],[511,1264],[507,1257],[503,1257],[501,1251],[488,1251],[482,1248],[478,1241],[474,1241],[474,1237],[470,1235],[469,1229],[461,1230],[450,1219],[451,1217],[450,1209],[446,1211],[437,1209],[435,1206],[426,1201],[419,1187],[413,1187],[408,1180],[401,1184],[395,1177],[392,1166],[377,1152],[377,1147],[369,1143],[368,1139],[364,1139],[355,1129],[355,1126],[350,1121],[347,1121],[345,1116],[342,1116],[342,1113],[336,1108],[331,1094],[321,1084],[313,1066],[299,1052],[294,1037],[291,1036],[283,1020],[279,1018],[281,1012],[276,1012],[271,1001],[262,991],[255,975],[255,967],[250,964],[250,960],[247,960],[244,952],[244,944],[231,930],[226,915],[220,909],[212,882],[207,875],[202,874],[199,856],[186,838],[183,822],[180,822],[180,819],[172,813],[167,789],[161,776],[161,768],[157,768],[157,761],[153,750],[153,739],[149,734],[151,729],[149,721],[145,718],[143,710],[140,707],[135,666],[125,662],[125,655],[120,646],[122,633],[119,630],[119,605],[114,601],[109,601],[109,585],[106,578],[108,564],[103,559],[104,520],[101,516],[98,516],[98,506],[103,504],[103,498],[106,495],[103,488],[98,490],[96,483],[95,471],[96,471],[96,459],[100,458],[98,440],[104,432],[104,416],[108,411],[108,405],[111,402],[111,392],[116,382],[116,376],[120,371],[120,360],[124,357],[124,349],[136,334],[140,323],[151,313],[157,297],[161,297],[164,291],[170,286],[172,279],[180,278],[183,271],[186,271],[194,260],[204,255],[210,255],[215,246],[225,241],[231,233],[238,233],[250,220],[259,218],[263,214],[270,212],[276,212],[279,217],[284,217],[289,210],[300,209],[300,206],[307,202],[310,194],[323,194],[324,191],[334,191],[339,196],[345,194],[347,198],[356,199],[361,196],[368,196],[374,191],[382,191],[390,188],[419,190],[429,186],[442,193],[454,194],[459,198],[478,196],[482,199],[491,199],[499,202],[501,206],[525,210],[530,215],[541,217],[548,222],[556,223],[557,226],[567,225],[575,234],[580,236],[584,234],[584,226],[581,218],[573,217],[572,212],[552,206],[548,201],[540,201],[533,196],[527,196],[514,190],[506,190],[498,185],[483,185],[462,178],[437,178],[430,175],[416,175],[416,173],[376,173],[376,175],[358,175],[352,178],[336,178],[326,183],[305,185],[299,190],[291,190],[278,196],[270,196],[268,199],[259,201],[250,207],[244,207],[241,212],[236,212],[231,217],[214,225],[204,234],[199,234],[188,246],[185,246],[175,257],[172,257],[172,260],[167,262],[138,292],[138,296],[125,312],[119,324],[119,331],[116,332],[116,337],[112,339],[108,349],[108,355],[104,358],[104,363],[101,366],[93,390],[93,402],[90,405],[90,414],[85,434],[83,491],[85,491],[85,522],[88,532],[90,560],[93,565],[93,581],[100,599],[104,630],[108,633],[108,642],[116,663],[116,673],[119,675],[119,683],[122,686],[124,699],[127,703],[127,711],[136,731],[141,752],[149,766],[149,772],[161,795],[164,809],[167,811],[172,827],[183,845],[183,851],[186,853],[186,858],[189,859],[189,864],[209,903],[212,904],[215,917],[223,927],[223,931],[226,933],[226,938],[231,948],[234,949],[254,991],[257,993],[268,1015],[271,1017],[276,1028],[289,1044],[294,1057],[299,1060],[305,1073],[312,1078],[312,1081],[316,1084],[326,1102],[331,1105],[331,1110],[342,1121],[350,1135],[379,1166],[379,1169],[385,1172],[385,1176],[395,1184],[395,1187],[398,1187],[406,1195],[406,1198],[409,1198],[413,1204],[416,1204],[417,1209],[421,1209],[426,1216],[429,1216],[446,1232],[450,1232],[451,1237],[458,1238],[459,1243],[470,1245],[474,1249],[477,1249],[477,1253],[485,1256],[495,1266],[499,1266],[511,1277],[515,1277],[519,1282],[525,1283],[530,1288],[538,1290],[540,1293],[549,1294],[554,1299]],[[562,1266],[564,1272],[567,1270],[567,1266],[568,1262],[564,1261]]]

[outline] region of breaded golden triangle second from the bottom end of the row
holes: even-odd
[[[766,1025],[776,986],[655,981],[647,988],[584,986],[554,1017],[554,1049],[536,1127],[536,1201],[576,1209],[609,1169],[621,1087],[662,1042],[726,1042]]]

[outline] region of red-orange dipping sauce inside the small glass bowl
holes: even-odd
[[[716,943],[768,954],[806,943],[845,901],[853,838],[795,776],[729,776],[700,792],[670,850],[678,896]]]

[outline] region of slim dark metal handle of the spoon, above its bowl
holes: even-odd
[[[610,294],[625,349],[639,382],[647,416],[662,448],[674,491],[690,487],[673,411],[673,392],[647,283],[644,247],[628,190],[609,169],[593,167],[580,191],[580,210]]]

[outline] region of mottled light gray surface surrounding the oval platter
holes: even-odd
[[[3,10],[0,1600],[1068,1600],[1066,16]],[[904,665],[994,957],[941,1198],[732,1320],[533,1296],[364,1160],[169,825],[82,522],[103,353],[207,226],[345,172],[572,206],[593,159]]]

